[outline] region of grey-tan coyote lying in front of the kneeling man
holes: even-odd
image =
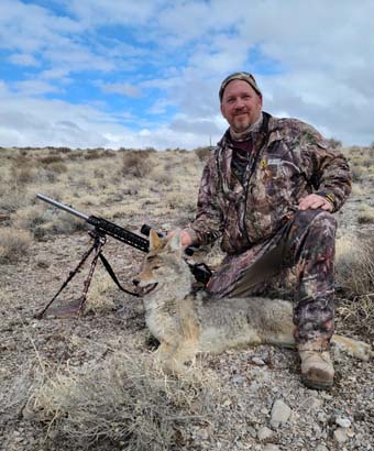
[[[157,361],[168,373],[185,373],[198,352],[255,344],[295,348],[290,301],[194,295],[178,232],[167,240],[151,231],[150,252],[134,282],[143,290],[146,326],[161,343]],[[332,343],[358,359],[372,356],[362,341],[334,334]]]

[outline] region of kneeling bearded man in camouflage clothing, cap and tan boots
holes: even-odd
[[[310,125],[262,111],[251,74],[219,91],[230,128],[205,167],[196,219],[184,245],[221,239],[227,253],[207,289],[213,297],[286,294],[294,274],[295,340],[304,383],[332,386],[333,257],[338,211],[351,191],[345,158]]]

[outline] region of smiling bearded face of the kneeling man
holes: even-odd
[[[235,132],[243,132],[260,118],[262,97],[243,80],[232,80],[223,91],[221,113]]]

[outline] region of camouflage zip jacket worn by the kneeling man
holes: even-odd
[[[271,237],[315,193],[339,210],[351,191],[346,160],[328,148],[327,141],[296,119],[263,113],[253,131],[253,151],[241,183],[231,169],[229,131],[211,152],[204,169],[197,215],[190,232],[197,244],[222,238],[221,248],[233,254]]]

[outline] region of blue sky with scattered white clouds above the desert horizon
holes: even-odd
[[[0,145],[194,148],[227,128],[218,89],[374,141],[371,0],[0,0]]]

